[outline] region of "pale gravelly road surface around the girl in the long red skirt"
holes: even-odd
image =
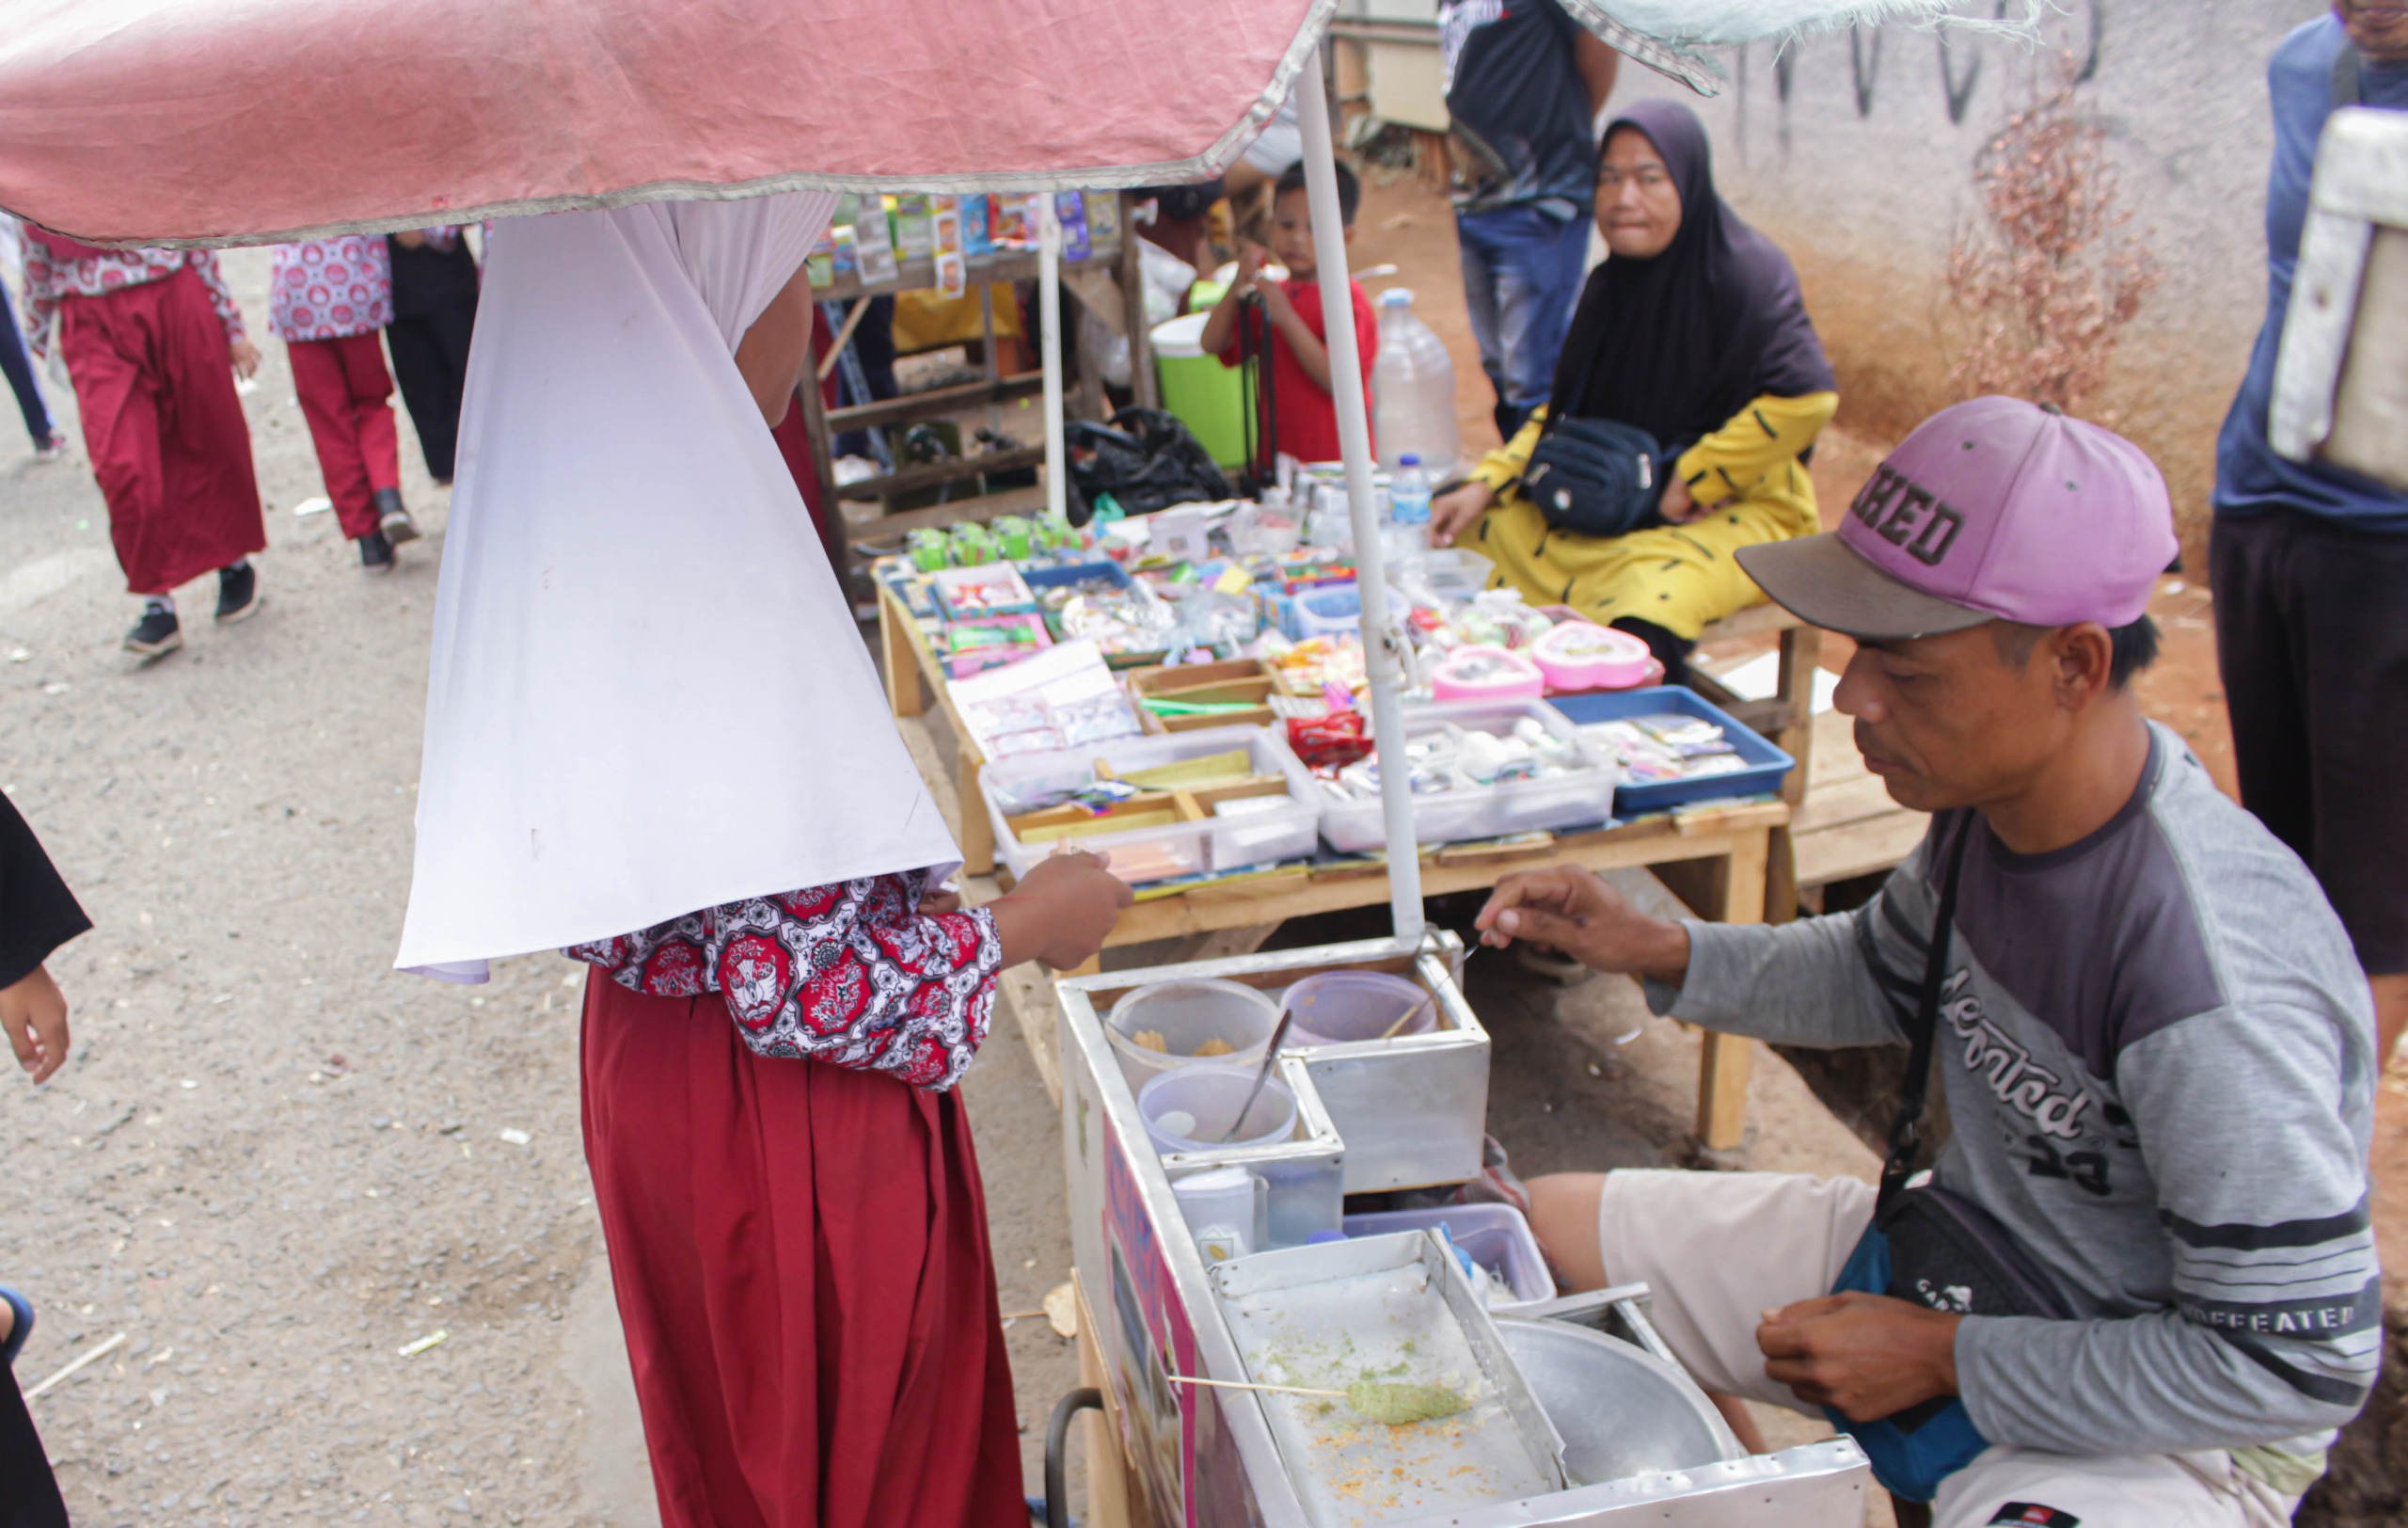
[[[224,263],[267,354],[255,619],[212,627],[195,583],[185,651],[137,668],[82,448],[34,465],[0,427],[0,788],[96,923],[53,962],[72,1065],[0,1087],[0,1282],[41,1311],[17,1374],[128,1335],[36,1405],[84,1526],[650,1523],[578,1150],[580,969],[390,971],[443,492],[405,427],[429,540],[393,578],[291,513],[320,482],[267,255]],[[1002,1297],[1035,1309],[1067,1268],[1060,1145],[1016,1036],[992,1051]],[[1035,1458],[1074,1367],[1043,1321],[1011,1347]]]

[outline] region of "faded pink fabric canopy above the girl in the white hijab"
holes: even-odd
[[[0,205],[255,243],[662,195],[1218,174],[1334,0],[12,0]]]

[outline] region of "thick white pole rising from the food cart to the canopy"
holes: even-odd
[[[1387,827],[1387,904],[1399,940],[1421,938],[1421,844],[1413,839],[1413,776],[1404,766],[1404,641],[1387,610],[1387,559],[1370,487],[1370,407],[1363,398],[1363,349],[1353,328],[1353,280],[1346,275],[1346,222],[1339,214],[1336,145],[1329,140],[1329,87],[1322,55],[1296,75],[1296,118],[1305,133],[1305,200],[1312,207],[1312,255],[1322,282],[1329,386],[1346,458],[1346,518],[1356,535],[1356,586],[1363,590],[1363,658],[1370,725],[1380,740],[1380,819]]]

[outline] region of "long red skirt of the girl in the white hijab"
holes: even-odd
[[[583,1063],[662,1528],[1026,1528],[961,1099],[602,976]]]

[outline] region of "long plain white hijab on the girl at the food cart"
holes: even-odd
[[[961,863],[734,366],[833,207],[494,229],[397,966]]]

